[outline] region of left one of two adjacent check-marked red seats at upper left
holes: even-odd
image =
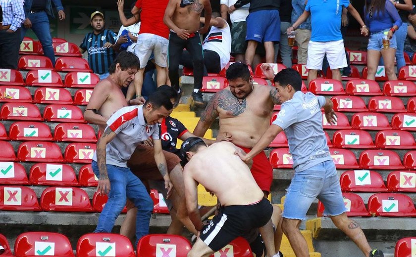
[[[62,79],[55,71],[36,70],[29,71],[26,75],[27,86],[58,86],[62,87]]]

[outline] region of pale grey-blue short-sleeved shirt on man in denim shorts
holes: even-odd
[[[297,91],[280,107],[274,125],[284,129],[293,158],[293,169],[305,171],[319,163],[332,160],[322,128],[325,97]]]

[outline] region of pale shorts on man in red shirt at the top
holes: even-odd
[[[169,40],[150,33],[143,33],[137,36],[137,43],[134,47],[134,54],[139,57],[140,68],[146,67],[152,52],[155,56],[155,64],[159,67],[167,66],[167,47]]]

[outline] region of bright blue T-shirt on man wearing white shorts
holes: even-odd
[[[350,5],[349,0],[308,0],[306,11],[311,12],[313,42],[342,40],[342,8]]]

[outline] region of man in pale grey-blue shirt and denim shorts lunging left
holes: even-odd
[[[283,232],[297,257],[309,257],[308,245],[299,226],[313,200],[318,198],[325,206],[325,214],[334,224],[350,237],[365,257],[383,257],[380,250],[371,250],[360,225],[347,217],[335,164],[329,154],[322,128],[325,111],[328,122],[333,123],[336,115],[332,101],[311,92],[302,93],[302,78],[293,69],[284,69],[274,76],[268,64],[262,65],[263,74],[278,91],[282,103],[276,120],[261,136],[253,149],[244,155],[236,152],[245,162],[267,147],[278,133],[285,131],[289,150],[293,158],[295,175],[287,189],[283,208]]]

